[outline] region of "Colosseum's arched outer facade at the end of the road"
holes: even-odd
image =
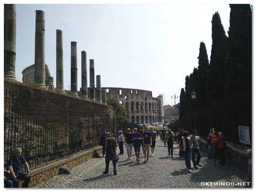
[[[129,123],[163,122],[163,95],[152,97],[152,91],[130,88],[101,87],[107,90],[107,99],[116,98],[127,111]]]

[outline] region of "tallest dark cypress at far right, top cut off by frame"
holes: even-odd
[[[252,89],[252,10],[249,4],[230,4],[229,57],[226,96],[251,94]]]

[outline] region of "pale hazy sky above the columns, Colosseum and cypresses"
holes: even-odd
[[[70,42],[77,41],[77,82],[81,87],[81,51],[94,59],[101,87],[124,87],[180,95],[185,77],[198,67],[199,44],[210,61],[211,19],[218,11],[229,30],[226,4],[17,4],[16,77],[34,64],[36,10],[45,12],[45,61],[56,87],[56,29],[63,31],[64,89],[70,85]],[[89,77],[88,77],[89,86]],[[176,99],[176,103],[179,99]]]

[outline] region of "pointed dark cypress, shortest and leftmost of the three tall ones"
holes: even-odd
[[[198,108],[204,108],[207,103],[207,78],[209,73],[209,60],[206,47],[203,42],[200,43],[198,64],[196,98]]]

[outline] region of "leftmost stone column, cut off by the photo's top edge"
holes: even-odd
[[[4,78],[16,80],[16,5],[4,4]]]

